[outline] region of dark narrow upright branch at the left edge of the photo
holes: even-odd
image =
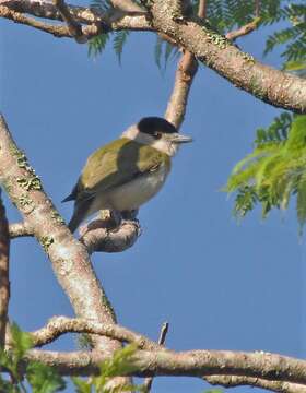
[[[1,199],[0,189],[0,347],[5,343],[5,330],[8,322],[8,308],[10,300],[10,235],[5,209]]]

